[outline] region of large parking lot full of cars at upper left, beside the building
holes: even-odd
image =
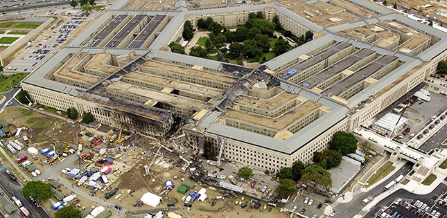
[[[51,35],[45,36],[40,44],[30,46],[30,51],[10,64],[6,71],[33,72],[71,37],[70,33],[73,30],[84,22],[85,18],[73,17],[59,28],[54,28]]]

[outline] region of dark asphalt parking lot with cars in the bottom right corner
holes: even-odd
[[[430,194],[419,195],[419,194],[413,194],[411,192],[407,192],[406,190],[402,190],[402,189],[397,190],[393,194],[390,194],[388,197],[386,197],[385,199],[383,199],[382,201],[377,203],[376,206],[374,206],[374,208],[371,208],[371,210],[369,210],[369,212],[367,213],[367,215],[365,215],[365,217],[366,218],[375,217],[374,215],[376,214],[376,212],[378,212],[378,210],[380,210],[380,208],[389,206],[389,204],[391,204],[397,198],[418,199],[420,201],[423,201],[424,203],[427,203],[428,206],[432,206],[435,204],[435,200],[437,199],[437,197],[443,195],[444,192],[446,191],[446,189],[447,189],[447,185],[444,185],[444,183],[440,183],[437,186],[437,188],[435,188],[435,190],[433,190]],[[436,209],[436,207],[439,208],[440,206],[435,205],[435,207],[434,207],[435,210],[446,211],[445,208],[441,210],[441,209]],[[401,211],[401,209],[396,209],[396,208],[392,208],[392,209],[394,209],[394,211],[396,211],[396,210]],[[408,212],[410,212],[410,213],[408,213]],[[408,216],[407,214],[410,216]],[[406,215],[407,217],[419,217],[418,215],[414,215],[414,213],[412,213],[411,210],[405,212],[404,215]],[[427,217],[427,215],[424,217]]]

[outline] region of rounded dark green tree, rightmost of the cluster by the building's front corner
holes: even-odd
[[[346,131],[338,131],[329,142],[329,147],[345,155],[356,152],[357,143],[358,140],[353,134],[349,134]]]

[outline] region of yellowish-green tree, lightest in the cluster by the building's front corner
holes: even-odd
[[[306,167],[302,173],[304,181],[313,187],[319,185],[324,188],[324,190],[329,190],[332,187],[331,173],[324,170],[320,165],[310,165]]]

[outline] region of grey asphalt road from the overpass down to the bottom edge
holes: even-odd
[[[354,194],[352,201],[350,201],[349,203],[339,203],[334,208],[335,211],[338,211],[337,217],[353,217],[354,215],[357,215],[360,211],[362,211],[363,206],[361,202],[363,199],[369,196],[378,196],[380,193],[383,192],[383,187],[385,187],[385,185],[396,179],[399,175],[405,175],[410,172],[410,169],[412,169],[412,165],[413,163],[410,162],[405,163],[405,165],[403,165],[401,169],[394,172],[394,174],[389,177],[389,179],[382,181],[381,183],[376,185],[376,187],[368,190],[368,192],[360,192],[359,194]]]

